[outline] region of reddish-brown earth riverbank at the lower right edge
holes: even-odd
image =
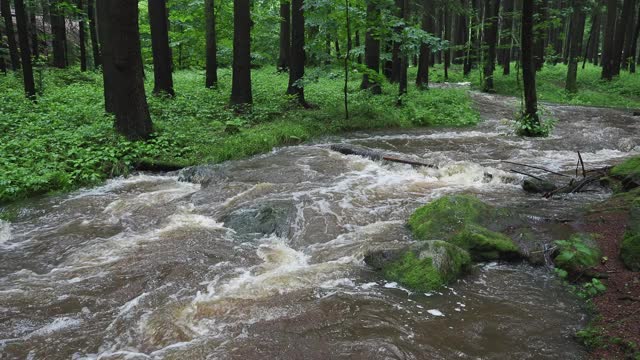
[[[637,177],[640,168],[635,173]],[[593,359],[640,359],[640,273],[632,271],[629,261],[625,264],[621,256],[623,252],[630,255],[628,245],[622,249],[623,242],[634,236],[636,262],[640,256],[634,233],[640,225],[639,205],[640,189],[621,192],[592,206],[577,225],[579,231],[595,234],[602,252],[602,261],[593,271],[601,274],[606,291],[590,300],[594,318],[586,329],[578,332],[591,349]]]

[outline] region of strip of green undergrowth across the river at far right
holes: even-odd
[[[602,68],[587,64],[578,68],[578,92],[565,90],[567,66],[564,64],[545,64],[537,73],[536,86],[538,100],[557,104],[602,106],[615,108],[640,109],[640,74],[629,74],[623,71],[611,81],[601,79]],[[444,81],[444,71],[437,65],[431,74],[431,80]],[[450,82],[471,82],[475,89],[481,89],[480,73],[474,70],[468,77],[462,74],[460,65],[453,65],[449,71]],[[512,63],[511,74],[503,75],[501,66],[496,67],[494,76],[495,91],[498,94],[521,96],[522,72],[517,75],[515,63]]]

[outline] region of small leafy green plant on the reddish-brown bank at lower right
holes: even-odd
[[[588,235],[576,234],[569,240],[555,241],[555,244],[558,247],[554,258],[556,266],[570,273],[584,271],[600,262],[600,250]]]

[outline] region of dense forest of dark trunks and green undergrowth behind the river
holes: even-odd
[[[0,201],[345,130],[478,121],[466,90],[431,83],[522,98],[514,119],[528,136],[553,126],[539,99],[640,107],[637,0],[2,0],[0,10]]]

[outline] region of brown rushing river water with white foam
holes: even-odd
[[[583,358],[586,314],[548,268],[479,264],[425,294],[363,263],[410,241],[409,214],[447,193],[515,207],[551,241],[606,194],[527,195],[500,160],[571,172],[576,150],[591,168],[640,153],[623,112],[550,106],[554,135],[522,139],[503,120],[513,100],[473,96],[474,128],[357,133],[201,169],[200,183],[143,174],[21,204],[0,222],[0,359]]]

